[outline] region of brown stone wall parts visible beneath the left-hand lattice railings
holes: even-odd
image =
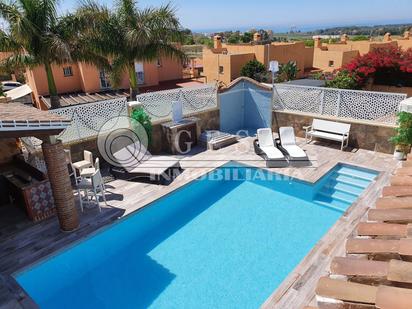
[[[188,116],[199,118],[201,131],[219,130],[219,109],[217,108],[200,113],[193,113]],[[164,145],[164,143],[161,122],[155,122],[152,131],[152,145],[149,147],[149,151],[152,154],[159,154],[164,151],[162,145]],[[94,158],[99,155],[96,138],[84,140],[80,143],[70,143],[66,145],[65,148],[70,149],[73,162],[83,160],[83,150],[91,151]]]

